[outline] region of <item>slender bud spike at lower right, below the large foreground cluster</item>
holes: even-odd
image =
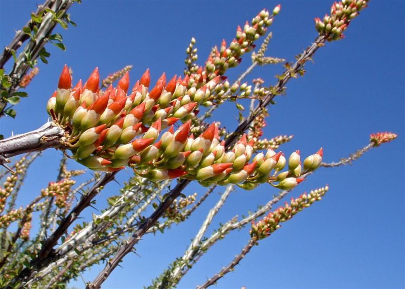
[[[285,203],[284,207],[280,207],[274,212],[270,212],[262,220],[257,223],[252,221],[252,229],[250,235],[256,240],[261,240],[268,237],[271,233],[280,227],[281,222],[290,220],[295,214],[309,207],[315,201],[322,198],[328,191],[329,187],[323,187],[312,190],[309,194],[303,193],[298,198],[291,198],[290,203]]]

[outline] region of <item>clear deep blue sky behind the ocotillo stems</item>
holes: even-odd
[[[7,45],[35,10],[34,1],[0,1],[0,45]],[[66,63],[73,77],[87,78],[95,66],[102,77],[121,67],[134,65],[131,84],[150,68],[152,80],[183,71],[185,49],[194,36],[199,63],[210,49],[229,42],[237,25],[251,20],[261,9],[281,4],[270,27],[273,39],[267,55],[294,60],[316,36],[314,17],[329,13],[331,1],[84,1],[73,5],[71,18],[77,27],[58,28],[66,52],[49,47],[48,65],[29,85],[29,98],[16,107],[17,118],[1,118],[0,133],[9,136],[36,129],[47,120],[46,102],[55,90]],[[276,98],[270,108],[266,137],[294,135],[281,149],[290,154],[314,153],[320,146],[325,161],[337,161],[368,143],[373,132],[392,131],[398,138],[373,149],[353,163],[337,169],[319,169],[292,193],[329,184],[321,202],[285,223],[260,242],[235,272],[218,288],[403,288],[404,267],[404,92],[405,4],[402,1],[372,1],[346,30],[346,38],[328,43],[305,67],[304,77],[292,79],[286,97]],[[250,64],[250,56],[237,69],[234,79]],[[262,77],[274,84],[281,66],[259,67],[248,78]],[[224,105],[213,117],[229,130],[237,122],[233,106]],[[25,184],[26,203],[56,177],[59,154],[46,151],[31,169]],[[79,168],[72,163],[71,168]],[[120,180],[128,175],[120,173]],[[97,197],[105,198],[117,187],[110,185]],[[203,194],[192,185],[185,193]],[[221,190],[217,190],[218,193]],[[214,219],[212,229],[235,215],[246,214],[267,202],[276,191],[262,185],[254,191],[233,193]],[[219,198],[212,194],[187,222],[164,235],[145,236],[104,283],[103,288],[138,288],[183,254],[209,208]],[[90,214],[93,209],[89,209]],[[212,231],[212,229],[210,231]],[[179,288],[192,288],[219,271],[248,240],[248,230],[232,232],[218,242],[182,279]],[[99,267],[86,272],[90,281]],[[83,287],[83,281],[72,282]]]

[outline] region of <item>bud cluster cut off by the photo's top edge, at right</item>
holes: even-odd
[[[342,0],[331,7],[331,15],[326,14],[323,20],[315,18],[315,28],[319,35],[325,35],[328,41],[343,38],[343,31],[358,13],[367,7],[369,0]]]

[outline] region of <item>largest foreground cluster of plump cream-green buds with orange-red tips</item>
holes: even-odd
[[[92,170],[114,171],[129,164],[137,174],[152,181],[182,177],[205,186],[233,183],[246,189],[268,181],[279,182],[273,185],[280,189],[292,188],[300,182],[297,179],[301,174],[299,156],[298,161],[297,157],[290,157],[289,171],[276,176],[286,164],[284,155],[268,149],[249,163],[254,140],[248,142],[246,135],[231,151],[225,151],[225,142],[219,140],[215,122],[198,137],[190,135],[190,118],[195,117],[197,104],[215,91],[220,77],[199,89],[186,78],[173,77],[166,84],[163,74],[149,91],[150,76],[146,71],[127,95],[129,75],[126,73],[117,88],[110,86],[99,95],[97,69],[83,87],[79,81],[71,88],[65,66],[58,90],[48,102],[48,112],[67,131],[66,148],[79,163]],[[179,119],[185,122],[175,131],[173,124]],[[304,162],[305,172],[319,166],[321,152],[314,156],[317,157],[312,163]],[[63,186],[52,183],[43,193],[63,196],[65,185],[70,189],[70,183]]]

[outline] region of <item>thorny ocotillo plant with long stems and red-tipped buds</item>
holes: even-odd
[[[15,116],[7,105],[15,105],[25,96],[17,89],[26,87],[38,73],[33,68],[36,58],[44,61],[49,56],[44,45],[53,40],[61,47],[60,34],[51,31],[54,24],[66,27],[71,23],[66,10],[72,3],[66,1],[65,7],[58,6],[60,3],[47,1],[33,14],[21,30],[30,44],[18,57],[18,33],[10,45],[14,44],[14,48],[5,49],[0,63],[15,63],[10,72],[2,70],[2,113]],[[279,207],[277,202],[294,188],[299,189],[302,181],[317,174],[319,168],[351,163],[371,148],[396,138],[393,133],[372,134],[369,144],[355,154],[327,163],[322,162],[321,144],[301,158],[300,150],[283,153],[279,148],[292,136],[266,138],[263,132],[269,107],[287,94],[287,83],[304,75],[305,64],[318,50],[342,39],[367,4],[365,0],[334,3],[325,17],[315,18],[314,42],[293,62],[267,56],[272,37],[269,27],[277,21],[281,8],[277,5],[270,11],[258,11],[252,21],[237,26],[234,39],[223,40],[203,62],[198,62],[196,40],[192,38],[181,75],[167,77],[163,73],[153,78],[154,72],[147,69],[134,81],[130,77],[132,66],[126,66],[101,79],[96,67],[86,80],[72,82],[76,68],[69,68],[67,63],[50,85],[55,92],[47,96],[44,107],[49,121],[35,131],[0,141],[0,164],[5,167],[0,191],[1,286],[65,287],[88,268],[104,262],[98,275],[86,283],[88,288],[98,288],[123,258],[134,252],[139,241],[151,233],[165,233],[188,222],[214,191],[222,192],[221,196],[184,254],[148,287],[176,286],[214,244],[222,239],[230,241],[228,233],[235,229],[251,226],[241,253],[222,270],[218,268],[219,273],[207,282],[201,279],[195,285],[205,288],[220,282],[253,246],[265,242],[263,239],[280,223],[320,200],[329,189],[322,184]],[[46,37],[40,41],[41,33],[46,33]],[[249,57],[252,65],[238,78],[227,77],[240,67],[242,59]],[[265,85],[267,79],[246,79],[257,66],[280,63],[284,63],[284,70],[274,85]],[[102,71],[102,63],[99,65]],[[28,67],[32,70],[26,74]],[[249,109],[242,104],[247,101]],[[229,130],[220,121],[209,120],[217,109],[232,103],[237,110],[246,110],[240,114],[236,129]],[[288,114],[287,111],[287,120],[292,117]],[[58,176],[19,207],[17,197],[29,166],[39,152],[50,149],[62,152]],[[24,156],[12,159],[20,154]],[[77,167],[71,164],[74,161],[81,169],[68,169],[69,163]],[[85,170],[93,174],[83,181]],[[119,192],[109,194],[108,205],[88,218],[86,213],[92,210],[96,198],[104,197],[100,191],[108,190],[109,183],[125,172],[131,175],[125,185]],[[77,180],[80,181],[76,184]],[[207,187],[206,192],[186,195],[185,188],[193,183],[198,184],[199,191]],[[230,193],[237,187],[254,190],[259,186],[275,195],[248,216],[231,218],[210,235],[208,227]],[[274,210],[275,206],[279,208]],[[84,218],[83,223],[80,218]]]

